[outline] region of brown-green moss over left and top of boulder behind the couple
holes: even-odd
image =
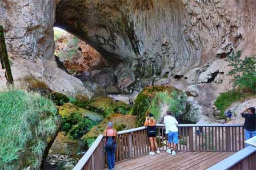
[[[158,101],[158,98],[155,98],[158,93],[165,93],[171,96],[171,93],[173,92],[181,93],[179,90],[171,86],[149,86],[143,89],[135,99],[134,107],[131,111],[133,115],[137,116],[137,126],[143,125],[143,122],[150,111],[152,112],[153,109],[159,111],[161,109],[159,107],[161,103]],[[151,108],[152,105],[155,105],[155,107]],[[154,115],[154,117],[158,116]]]

